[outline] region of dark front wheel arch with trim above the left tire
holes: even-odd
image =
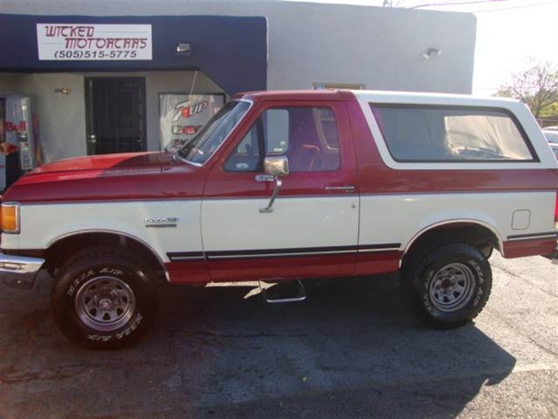
[[[81,230],[56,237],[51,240],[45,251],[47,268],[54,272],[73,253],[103,244],[132,251],[158,273],[157,277],[163,277],[169,282],[169,272],[165,263],[153,247],[139,237],[114,230]]]

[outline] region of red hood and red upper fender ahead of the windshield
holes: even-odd
[[[79,157],[45,164],[3,196],[19,203],[199,198],[207,170],[148,152]]]

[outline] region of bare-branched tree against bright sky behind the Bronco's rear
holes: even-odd
[[[511,82],[504,84],[495,96],[516,98],[526,103],[536,118],[541,117],[558,103],[558,66],[549,62],[531,60],[531,68],[511,75]]]

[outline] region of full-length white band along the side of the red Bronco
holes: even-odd
[[[85,231],[124,233],[151,247],[161,260],[173,251],[234,251],[400,243],[448,221],[487,226],[500,242],[510,235],[549,232],[555,191],[526,193],[379,194],[266,199],[21,206],[21,234],[2,236],[5,249],[46,249]],[[353,207],[354,205],[354,207]],[[200,210],[202,216],[200,217]],[[514,211],[529,211],[525,229],[513,229]],[[84,216],[88,214],[88,216]],[[176,227],[146,227],[145,219],[177,216]],[[201,224],[200,224],[201,220]],[[202,245],[203,237],[203,245]]]

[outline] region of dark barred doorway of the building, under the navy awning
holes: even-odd
[[[144,78],[86,78],[87,154],[146,151]]]

